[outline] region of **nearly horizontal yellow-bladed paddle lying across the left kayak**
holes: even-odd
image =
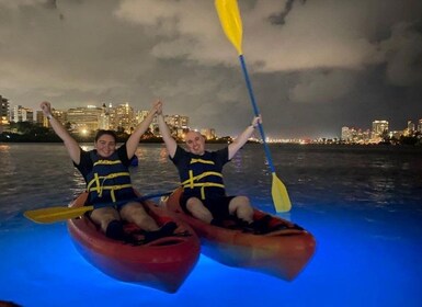
[[[136,202],[142,202],[149,198],[153,197],[159,197],[159,196],[164,196],[164,195],[170,195],[172,192],[164,192],[164,193],[158,193],[158,194],[150,194],[150,195],[145,195],[138,198],[135,198],[133,201]],[[95,204],[92,206],[83,206],[83,207],[65,207],[65,206],[58,206],[58,207],[49,207],[49,208],[41,208],[41,209],[34,209],[34,211],[27,211],[24,212],[24,216],[27,219],[31,219],[35,223],[41,223],[41,224],[49,224],[49,223],[55,223],[55,221],[60,221],[60,220],[66,220],[70,218],[76,218],[78,216],[83,215],[87,212],[105,207],[105,206],[118,206],[126,204],[127,201],[124,202],[116,202],[116,203],[106,203],[106,204]]]

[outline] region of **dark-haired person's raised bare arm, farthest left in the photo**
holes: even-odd
[[[43,110],[43,113],[44,113],[44,116],[46,116],[49,121],[49,124],[52,126],[52,128],[54,129],[54,132],[58,135],[59,138],[61,138],[61,140],[64,141],[65,144],[65,147],[70,156],[70,159],[72,159],[72,161],[76,163],[76,164],[79,164],[80,163],[80,147],[79,147],[79,144],[75,140],[75,138],[72,138],[69,134],[69,132],[60,124],[59,121],[57,121],[57,118],[55,118],[52,114],[52,104],[49,102],[42,102],[41,103],[41,110]]]

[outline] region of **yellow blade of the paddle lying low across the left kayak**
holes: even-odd
[[[23,215],[41,224],[55,223],[59,220],[66,220],[69,218],[75,218],[83,215],[85,212],[93,211],[93,206],[83,206],[83,207],[49,207],[49,208],[41,208],[35,211],[27,211]]]

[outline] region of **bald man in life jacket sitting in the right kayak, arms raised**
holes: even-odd
[[[205,138],[191,130],[185,136],[187,150],[178,146],[164,122],[162,104],[158,109],[158,124],[171,161],[179,171],[183,195],[180,201],[185,213],[208,224],[219,225],[228,216],[236,216],[248,225],[253,223],[253,208],[247,196],[227,196],[223,180],[223,167],[252,136],[261,123],[261,116],[227,147],[205,150]]]

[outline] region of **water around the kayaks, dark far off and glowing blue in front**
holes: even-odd
[[[22,306],[421,306],[422,150],[271,148],[293,209],[318,248],[287,283],[206,257],[176,294],[115,281],[75,250],[65,223],[37,225],[26,209],[66,205],[83,190],[61,145],[0,144],[0,300]],[[142,193],[178,185],[160,145],[138,148]],[[260,146],[226,168],[229,192],[273,212]]]

